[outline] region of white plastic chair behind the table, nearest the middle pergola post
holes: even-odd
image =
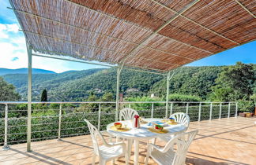
[[[120,119],[120,121],[122,121],[122,119],[124,119],[124,120],[134,119],[135,115],[138,116],[138,113],[136,110],[134,110],[132,108],[122,108],[119,113],[119,119]],[[131,139],[128,139],[127,141],[128,141],[127,152],[128,152],[128,157],[130,157],[131,147],[132,147],[134,141]]]

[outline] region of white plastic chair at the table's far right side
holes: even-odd
[[[183,112],[177,112],[177,113],[174,113],[170,116],[170,118],[174,118],[175,119],[175,122],[178,122],[180,124],[183,124],[186,129],[183,131],[183,132],[186,132],[187,128],[189,127],[190,125],[190,116],[186,115],[186,113],[183,113]],[[165,136],[165,137],[161,137],[160,140],[162,141],[165,141],[165,142],[168,142],[171,140],[171,138],[173,138],[174,135],[171,135],[171,136]],[[154,144],[156,143],[156,139],[154,140],[153,142]]]

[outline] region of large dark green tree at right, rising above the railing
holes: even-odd
[[[253,64],[237,62],[235,66],[225,67],[216,79],[216,86],[212,87],[211,100],[248,100],[253,94],[254,81]]]

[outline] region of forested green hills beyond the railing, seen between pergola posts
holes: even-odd
[[[170,93],[208,97],[211,86],[222,67],[185,67],[175,70],[171,79]],[[23,100],[27,95],[27,75],[13,74],[2,76],[8,83],[16,86]],[[162,75],[134,72],[124,69],[121,75],[121,92],[125,96],[164,97],[166,78]],[[116,68],[89,69],[64,72],[61,74],[32,75],[32,94],[34,101],[40,101],[40,93],[47,90],[49,101],[84,101],[89,94],[102,96],[107,92],[115,94]]]

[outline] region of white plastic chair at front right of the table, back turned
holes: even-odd
[[[160,165],[183,165],[186,161],[186,152],[194,137],[198,134],[198,130],[182,133],[171,138],[170,141],[160,148],[157,145],[149,144],[145,164],[149,162],[149,156]],[[173,146],[177,145],[174,151]]]

